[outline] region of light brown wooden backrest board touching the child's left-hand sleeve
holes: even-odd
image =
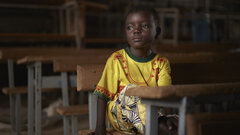
[[[78,65],[77,90],[93,91],[101,78],[104,64]]]

